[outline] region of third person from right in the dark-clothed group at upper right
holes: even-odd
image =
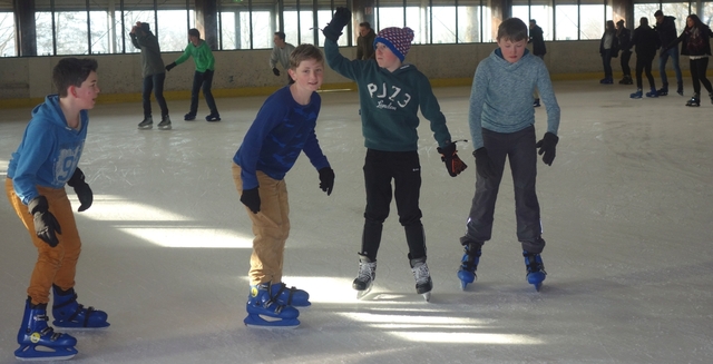
[[[656,83],[654,76],[651,73],[651,63],[656,57],[656,50],[661,47],[661,39],[656,31],[648,26],[648,18],[642,17],[639,26],[634,30],[632,37],[632,46],[636,52],[636,92],[631,95],[633,99],[641,99],[643,96],[642,71],[646,72],[651,92],[646,92],[646,97],[658,97],[656,92]]]

